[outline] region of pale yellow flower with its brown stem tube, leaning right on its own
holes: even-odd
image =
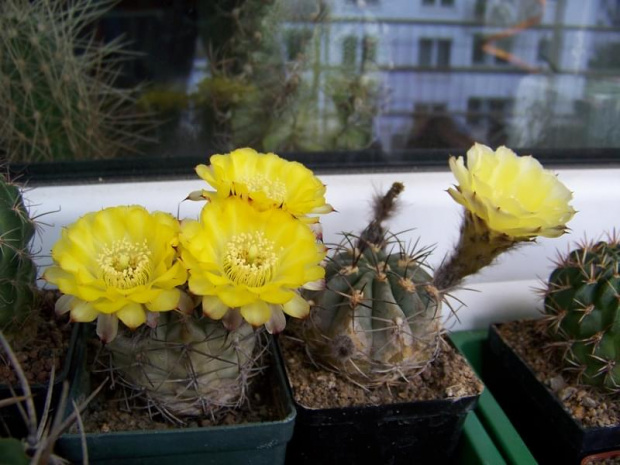
[[[467,152],[467,167],[463,157],[452,157],[450,168],[459,185],[448,193],[465,207],[465,215],[458,244],[435,271],[440,291],[520,242],[561,236],[575,214],[572,193],[532,156],[475,144]]]

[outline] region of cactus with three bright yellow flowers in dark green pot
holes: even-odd
[[[44,277],[64,294],[56,310],[73,321],[96,320],[100,365],[87,368],[110,374],[131,408],[121,418],[141,410],[160,420],[148,428],[173,426],[88,432],[92,462],[284,460],[294,412],[282,374],[264,366],[262,328],[277,333],[285,314],[307,315],[298,288],[323,283],[325,248],[311,225],[331,211],[325,186],[303,165],[252,149],[214,155],[197,173],[215,188],[189,195],[208,200],[199,220],[109,207],[66,227],[52,249]],[[268,421],[206,427],[269,396],[254,388],[263,372],[275,393]],[[86,413],[85,423],[95,414]],[[59,451],[81,460],[79,445],[79,435],[65,436]]]

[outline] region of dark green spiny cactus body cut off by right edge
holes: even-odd
[[[567,367],[585,383],[620,388],[620,242],[587,244],[551,273],[545,292],[549,332]]]

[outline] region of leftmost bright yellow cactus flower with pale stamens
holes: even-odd
[[[110,342],[118,320],[137,328],[156,314],[180,305],[176,287],[187,280],[177,259],[179,222],[170,214],[140,206],[110,207],[88,213],[64,228],[52,248],[54,266],[44,279],[65,294],[58,313],[90,322]]]

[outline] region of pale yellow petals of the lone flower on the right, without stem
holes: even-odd
[[[475,144],[463,157],[450,158],[459,185],[448,192],[489,229],[516,239],[558,237],[575,210],[572,193],[532,156]]]

